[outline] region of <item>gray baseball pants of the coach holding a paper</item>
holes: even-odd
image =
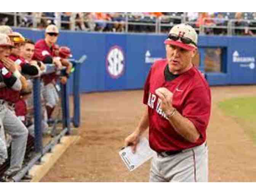
[[[155,154],[149,182],[208,182],[208,147],[206,143],[171,156]]]

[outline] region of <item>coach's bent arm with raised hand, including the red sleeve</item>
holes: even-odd
[[[168,89],[165,92],[156,90],[162,100],[161,108],[174,130],[187,141],[195,143],[204,135],[210,119],[211,102],[204,87],[189,92],[182,114],[172,105],[173,95]]]

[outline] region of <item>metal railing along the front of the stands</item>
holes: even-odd
[[[76,19],[77,14],[79,13],[72,13],[69,17],[69,21],[63,21],[61,19],[62,13],[58,12],[55,13],[55,17],[46,17],[46,16],[38,16],[38,15],[29,15],[29,14],[24,14],[24,13],[16,13],[16,12],[0,12],[0,14],[5,14],[8,16],[13,16],[13,27],[21,27],[21,18],[30,18],[32,22],[32,27],[37,28],[38,24],[40,21],[46,21],[47,25],[47,20],[50,22],[54,21],[54,23],[61,29],[62,25],[68,24],[69,26],[66,28],[68,30],[76,30],[76,25],[77,24],[82,24],[85,25],[86,22],[93,22],[93,27],[92,29],[87,29],[88,31],[95,31],[95,26],[97,23],[106,23],[108,25],[114,25],[114,24],[123,24],[124,29],[122,32],[128,33],[128,32],[133,32],[133,27],[135,26],[140,26],[143,31],[144,27],[148,27],[149,30],[147,32],[150,33],[166,33],[167,30],[170,30],[173,25],[179,23],[186,23],[192,25],[195,30],[197,30],[201,35],[204,35],[205,32],[208,30],[213,30],[213,29],[222,29],[227,32],[227,35],[235,35],[234,30],[236,29],[245,29],[245,30],[256,30],[256,27],[246,27],[246,26],[235,26],[234,22],[236,21],[246,21],[246,22],[255,22],[256,20],[248,20],[248,19],[226,19],[226,18],[204,18],[203,19],[203,24],[197,27],[197,22],[191,22],[187,21],[187,14],[184,13],[181,16],[152,16],[152,15],[146,15],[146,14],[134,14],[134,13],[107,13],[110,16],[113,16],[113,14],[120,16],[120,21],[110,21],[110,20],[96,20],[96,19],[85,19],[83,17],[84,13],[80,14],[80,18]],[[213,21],[213,25],[206,25],[206,21]],[[175,22],[174,22],[175,21]],[[221,22],[225,23],[226,25],[219,25]],[[215,23],[215,24],[214,24]],[[139,28],[140,28],[139,27]],[[83,28],[84,29],[84,28]],[[81,30],[83,30],[81,29]],[[165,29],[165,31],[163,30]],[[113,31],[115,32],[115,31]]]

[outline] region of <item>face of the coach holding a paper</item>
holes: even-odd
[[[195,56],[197,50],[194,49],[194,51],[187,51],[174,45],[166,45],[165,49],[169,70],[173,74],[186,72],[190,64],[192,64],[192,58]]]

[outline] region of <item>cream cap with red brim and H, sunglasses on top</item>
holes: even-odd
[[[164,43],[193,51],[197,48],[197,32],[188,24],[174,25]]]

